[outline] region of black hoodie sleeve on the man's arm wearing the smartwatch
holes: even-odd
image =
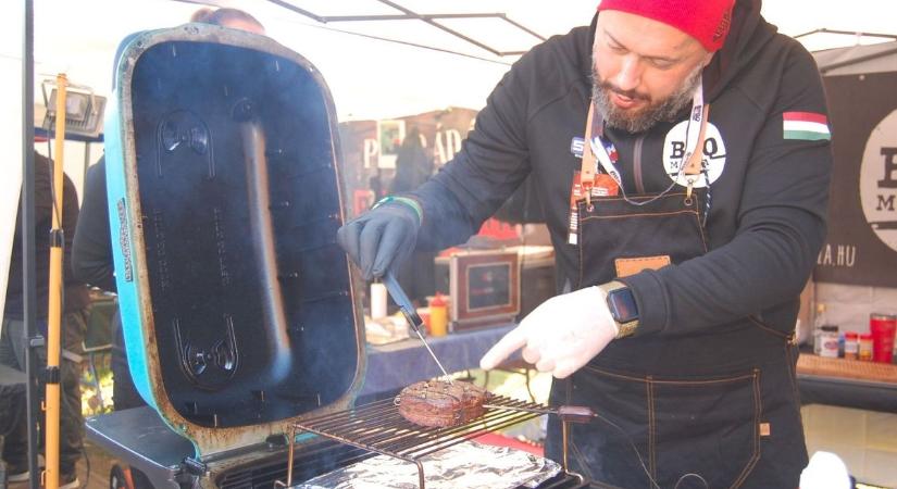
[[[637,335],[702,329],[746,316],[764,321],[764,310],[798,297],[825,238],[833,156],[825,137],[784,137],[789,112],[826,114],[819,71],[796,41],[755,139],[735,237],[678,266],[623,279],[639,308]],[[772,326],[784,334],[794,328]]]

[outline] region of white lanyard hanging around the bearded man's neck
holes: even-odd
[[[591,204],[591,185],[595,180],[596,159],[597,163],[601,165],[605,171],[616,183],[620,189],[623,189],[623,179],[620,172],[616,170],[616,149],[610,140],[603,138],[603,117],[601,124],[598,126],[597,134],[593,137],[593,120],[594,120],[595,104],[589,104],[588,118],[586,121],[586,141],[583,148],[583,163],[580,171],[582,176],[583,193],[586,196],[586,202]],[[677,175],[685,172],[689,176],[687,178],[688,187],[687,195],[692,197],[692,185],[697,180],[701,173],[701,151],[703,146],[705,133],[707,130],[707,118],[710,114],[710,105],[703,103],[703,84],[698,83],[695,88],[695,93],[692,96],[692,112],[688,116],[688,126],[685,129],[685,153],[680,163]],[[695,123],[693,125],[693,123]],[[665,192],[664,192],[665,193]],[[625,195],[625,193],[624,193]]]

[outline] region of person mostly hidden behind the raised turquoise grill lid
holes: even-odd
[[[237,9],[200,9],[190,16],[190,22],[265,34],[264,26],[256,17]],[[95,287],[114,292],[115,276],[108,205],[103,158],[87,171],[82,218],[75,233],[72,259],[76,277]],[[137,393],[130,378],[124,351],[122,319],[117,311],[112,323],[115,331],[112,347],[112,397],[115,410],[144,405],[144,400]]]

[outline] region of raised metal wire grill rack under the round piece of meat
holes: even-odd
[[[418,466],[419,487],[424,489],[421,459],[479,435],[507,428],[547,412],[546,406],[493,396],[483,416],[459,426],[428,428],[415,425],[399,414],[393,399],[373,402],[354,410],[302,419],[292,425],[290,440],[297,431],[309,431],[352,447],[395,456]],[[522,411],[532,410],[532,411]],[[536,411],[536,412],[533,412]],[[292,452],[292,442],[290,452]],[[566,448],[564,447],[564,450]],[[292,460],[291,453],[290,459]],[[292,485],[292,468],[287,471],[287,486]]]

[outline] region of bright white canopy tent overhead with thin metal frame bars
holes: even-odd
[[[0,179],[0,277],[7,277],[13,223],[21,187],[21,80],[23,1],[0,7],[0,78],[5,148]],[[419,14],[504,13],[500,18],[446,18],[440,24],[497,51],[525,51],[549,37],[587,24],[597,0],[395,0]],[[42,120],[40,84],[57,73],[108,96],[115,49],[127,34],[186,22],[201,5],[233,7],[250,12],[281,43],[314,63],[329,84],[340,121],[388,118],[446,106],[479,109],[516,55],[497,55],[420,20],[316,22],[317,16],[399,15],[382,0],[34,0],[35,120]],[[893,0],[767,0],[765,17],[785,34],[819,28],[894,33]],[[538,34],[534,36],[527,30]],[[802,37],[809,49],[887,39],[817,34]],[[66,150],[66,173],[80,188],[84,150]],[[88,156],[101,152],[95,145]],[[0,301],[5,280],[0,280]],[[2,302],[0,302],[2,304]]]

